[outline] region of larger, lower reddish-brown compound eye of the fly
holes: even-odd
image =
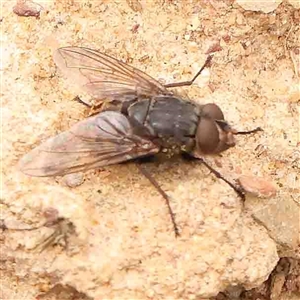
[[[214,153],[218,148],[219,142],[219,131],[215,121],[210,118],[202,118],[196,133],[198,150],[204,154]]]

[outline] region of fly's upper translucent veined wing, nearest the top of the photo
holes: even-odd
[[[97,100],[126,101],[137,95],[170,94],[144,72],[96,50],[59,48],[53,59],[66,77]]]

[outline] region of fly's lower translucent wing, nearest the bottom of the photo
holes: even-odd
[[[57,176],[155,154],[159,147],[133,133],[128,119],[105,111],[31,150],[19,162],[30,176]]]

